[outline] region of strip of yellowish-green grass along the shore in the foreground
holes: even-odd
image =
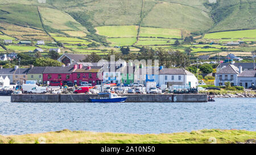
[[[182,133],[155,134],[127,134],[127,133],[100,133],[87,131],[63,131],[0,136],[0,143],[38,143],[44,137],[46,143],[212,143],[214,137],[217,143],[237,143],[248,139],[256,139],[256,132],[243,130],[203,129],[200,131]]]

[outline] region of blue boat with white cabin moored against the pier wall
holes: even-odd
[[[127,97],[118,97],[117,94],[114,93],[98,93],[96,98],[89,98],[90,102],[100,102],[100,103],[117,103],[117,102],[125,102]]]

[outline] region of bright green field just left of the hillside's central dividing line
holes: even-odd
[[[137,26],[102,26],[96,27],[97,33],[107,37],[136,37]]]

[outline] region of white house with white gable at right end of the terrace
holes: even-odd
[[[196,87],[197,83],[195,75],[183,68],[163,68],[159,71],[159,86],[189,85]]]

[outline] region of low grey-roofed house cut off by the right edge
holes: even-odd
[[[248,88],[256,85],[256,70],[245,70],[238,76],[238,86]]]

